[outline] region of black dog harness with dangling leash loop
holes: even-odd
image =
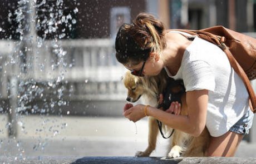
[[[181,87],[181,90],[177,93],[174,93],[173,88],[175,88],[175,87]],[[168,81],[166,90],[163,92],[163,97],[164,97],[163,103],[161,103],[157,108],[163,107],[163,110],[166,111],[169,109],[171,102],[175,102],[175,101],[179,102],[180,105],[182,106],[181,96],[185,93],[185,91],[186,90],[185,90],[184,83],[183,83],[182,79],[174,80],[174,79],[170,78]],[[159,120],[156,120],[156,121],[157,121],[157,125],[158,125],[159,131],[160,131],[162,137],[165,139],[170,138],[174,133],[174,129],[173,129],[173,131],[171,131],[171,134],[169,137],[165,137],[164,133],[162,131],[161,121],[159,121]]]

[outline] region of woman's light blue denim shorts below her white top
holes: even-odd
[[[251,110],[248,110],[245,115],[240,118],[240,120],[233,125],[229,131],[241,134],[241,135],[247,135],[249,133],[249,129],[252,127],[253,124],[253,116],[254,113]]]

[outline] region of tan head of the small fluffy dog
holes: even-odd
[[[145,86],[142,84],[141,77],[134,76],[130,71],[127,71],[122,80],[128,90],[127,101],[136,102],[145,93]]]

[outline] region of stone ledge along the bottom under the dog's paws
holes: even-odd
[[[175,159],[166,159],[161,157],[66,157],[66,156],[37,156],[37,157],[6,157],[0,156],[0,163],[169,163],[169,164],[187,164],[187,163],[218,163],[218,164],[240,164],[240,163],[256,163],[256,158],[239,158],[239,157],[180,157]]]

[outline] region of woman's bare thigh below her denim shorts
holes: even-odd
[[[233,157],[243,135],[228,131],[222,136],[211,137],[207,156]]]

